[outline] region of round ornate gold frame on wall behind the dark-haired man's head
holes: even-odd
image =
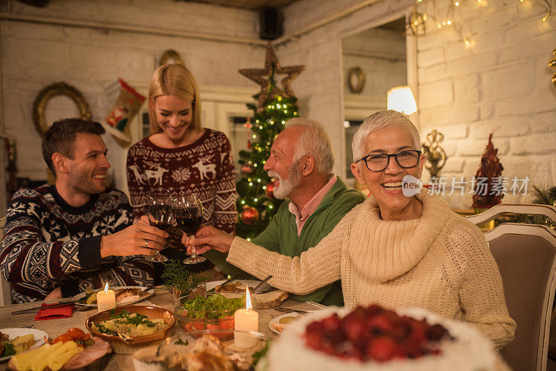
[[[70,97],[79,109],[79,117],[82,119],[91,119],[89,104],[85,101],[85,97],[83,97],[83,94],[81,94],[79,90],[72,85],[67,85],[67,83],[63,81],[53,83],[42,89],[33,102],[33,121],[41,136],[44,136],[44,133],[49,129],[47,122],[44,120],[44,108],[46,108],[48,101],[52,97],[56,97],[56,95],[67,95],[67,97]]]

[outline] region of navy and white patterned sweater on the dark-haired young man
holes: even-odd
[[[111,286],[148,286],[154,269],[142,256],[100,256],[101,236],[131,225],[124,193],[107,188],[88,204],[67,204],[55,186],[15,192],[0,245],[4,279],[13,283],[16,302],[44,299],[60,287],[63,297]]]

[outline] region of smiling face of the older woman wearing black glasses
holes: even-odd
[[[379,129],[367,135],[364,142],[364,154],[397,154],[404,150],[418,150],[414,147],[409,131],[402,126],[391,126]],[[359,158],[357,158],[359,160]],[[352,163],[352,172],[359,183],[366,184],[371,195],[378,202],[383,215],[404,215],[414,202],[415,197],[406,197],[402,193],[402,180],[404,176],[411,175],[420,178],[423,172],[424,156],[419,157],[419,163],[410,168],[400,167],[394,157],[391,157],[386,169],[371,172],[365,161]]]

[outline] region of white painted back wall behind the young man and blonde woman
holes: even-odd
[[[8,6],[9,5],[9,6]],[[51,1],[47,8],[33,8],[17,1],[2,3],[10,14],[38,16],[56,22],[100,22],[130,28],[167,28],[220,38],[258,40],[258,15],[248,10],[185,3],[172,0]],[[238,69],[262,64],[264,47],[202,38],[149,35],[146,33],[95,30],[91,28],[19,22],[0,22],[2,45],[2,122],[17,142],[17,176],[46,179],[40,151],[40,135],[32,119],[33,100],[45,86],[65,81],[80,90],[88,101],[92,118],[101,121],[113,106],[122,78],[146,94],[149,80],[163,51],[178,51],[199,86],[249,88],[256,85]],[[203,92],[202,92],[203,94]],[[232,99],[234,100],[234,99]],[[51,121],[76,113],[70,99],[60,96],[47,106]],[[213,127],[213,123],[206,123]],[[121,167],[126,149],[104,135],[111,177],[122,188]],[[122,173],[123,172],[123,173]]]

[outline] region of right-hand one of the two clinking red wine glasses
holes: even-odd
[[[201,201],[193,193],[178,196],[174,199],[174,217],[183,233],[186,233],[190,238],[195,236],[203,222],[203,206]],[[193,254],[186,258],[183,263],[197,264],[206,261],[204,256],[195,254],[195,247],[192,248]]]

